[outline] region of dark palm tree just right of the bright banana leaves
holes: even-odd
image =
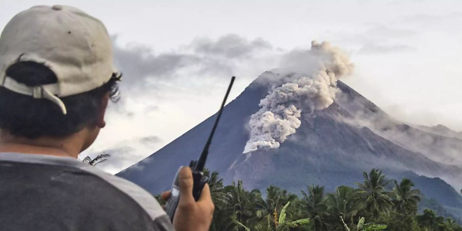
[[[311,221],[314,222],[315,231],[325,229],[324,218],[329,214],[327,213],[328,207],[325,204],[324,187],[312,185],[307,189],[308,193],[301,191],[303,195],[302,207],[310,215]]]

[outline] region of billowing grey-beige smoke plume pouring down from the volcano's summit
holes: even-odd
[[[269,90],[260,110],[251,116],[243,153],[278,148],[300,127],[303,110],[311,113],[334,102],[337,78],[352,70],[348,56],[328,42],[313,41],[311,50],[288,54],[281,67],[273,70],[287,77]]]

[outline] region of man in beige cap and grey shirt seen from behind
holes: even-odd
[[[210,191],[194,200],[189,168],[171,224],[148,192],[76,159],[118,98],[99,20],[68,6],[23,11],[0,36],[0,67],[0,230],[208,230]]]

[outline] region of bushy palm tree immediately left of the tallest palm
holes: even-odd
[[[338,187],[334,194],[327,195],[326,203],[328,204],[329,214],[334,218],[341,217],[342,220],[350,221],[350,225],[352,225],[353,217],[361,208],[359,196],[358,190],[354,188],[344,185]],[[339,225],[343,227],[342,224]]]

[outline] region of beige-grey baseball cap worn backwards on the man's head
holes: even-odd
[[[43,63],[57,83],[27,86],[6,75],[21,61]],[[119,72],[113,66],[112,43],[97,18],[70,6],[35,6],[16,14],[0,36],[0,86],[11,91],[48,99],[66,106],[60,97],[98,88]],[[33,78],[33,76],[31,76]]]

